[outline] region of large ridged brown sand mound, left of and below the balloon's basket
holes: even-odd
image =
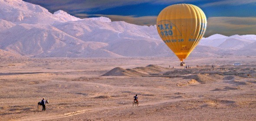
[[[167,68],[159,67],[157,65],[148,65],[147,67],[136,67],[133,69],[123,69],[121,67],[116,67],[102,76],[149,76],[158,75],[159,72],[168,70]]]

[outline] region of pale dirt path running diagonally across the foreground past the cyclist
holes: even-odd
[[[203,98],[190,98],[190,99],[172,99],[172,100],[163,100],[158,102],[149,102],[144,104],[139,104],[139,106],[147,106],[147,105],[161,105],[164,103],[170,103],[170,102],[178,102],[178,101],[184,101],[184,100],[194,100],[194,99],[203,99]],[[70,117],[73,115],[79,115],[86,112],[93,112],[93,111],[102,111],[106,109],[113,109],[113,108],[124,108],[124,107],[132,107],[131,105],[124,105],[124,106],[114,106],[114,107],[101,107],[101,108],[91,108],[91,109],[85,109],[85,110],[79,110],[79,111],[73,111],[69,113],[65,113],[63,115],[51,115],[51,116],[36,116],[36,117],[28,117],[26,119],[21,119],[20,121],[43,121],[43,120],[51,120],[51,119],[57,119],[57,118],[65,118]],[[24,117],[25,118],[25,117]]]

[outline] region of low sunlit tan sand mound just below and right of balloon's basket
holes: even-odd
[[[220,75],[205,75],[205,74],[195,74],[185,77],[184,79],[193,79],[200,83],[213,82],[222,79]]]

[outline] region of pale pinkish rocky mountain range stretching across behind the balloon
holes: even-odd
[[[156,25],[79,19],[62,10],[52,14],[22,0],[0,0],[0,36],[0,49],[29,57],[174,56]],[[254,55],[255,41],[256,35],[212,35],[191,56]]]

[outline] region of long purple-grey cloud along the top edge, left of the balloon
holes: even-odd
[[[179,3],[191,0],[23,0],[29,3],[46,6],[51,12],[57,10],[66,10],[71,13],[77,11],[90,12],[97,10],[105,10],[108,8],[136,5],[140,3],[164,4]],[[199,0],[195,0],[199,1]]]

